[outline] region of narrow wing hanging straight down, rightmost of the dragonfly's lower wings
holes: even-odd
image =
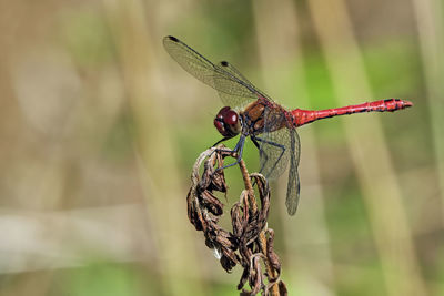
[[[299,134],[295,129],[289,130],[290,134],[290,171],[289,171],[289,182],[286,185],[286,211],[290,215],[294,215],[297,210],[299,197],[300,197],[300,181],[299,181],[299,160],[301,155],[301,143],[299,140]]]

